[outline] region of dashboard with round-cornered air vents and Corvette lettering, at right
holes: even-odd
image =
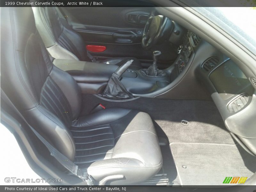
[[[185,48],[180,54],[180,73],[189,68],[197,81],[210,93],[220,115],[233,138],[250,154],[256,155],[256,81],[246,76],[246,68],[240,68],[212,45],[196,34],[188,32]],[[191,46],[191,49],[189,48]],[[186,48],[187,47],[187,48]],[[192,50],[190,52],[190,50]],[[186,62],[194,57],[190,63]],[[187,66],[186,65],[190,65]],[[184,67],[185,65],[185,67]]]

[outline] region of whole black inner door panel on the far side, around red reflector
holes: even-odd
[[[68,23],[86,45],[102,45],[97,57],[136,57],[152,60],[152,52],[143,50],[141,38],[152,7],[65,7]]]

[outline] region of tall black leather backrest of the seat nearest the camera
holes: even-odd
[[[1,87],[28,123],[73,160],[69,127],[80,114],[81,91],[53,66],[31,7],[1,7]]]

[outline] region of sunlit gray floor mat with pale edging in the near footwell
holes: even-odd
[[[223,184],[226,177],[249,178],[256,172],[256,158],[238,144],[171,143],[170,147],[181,185],[228,185]]]

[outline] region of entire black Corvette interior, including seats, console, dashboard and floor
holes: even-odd
[[[249,180],[255,89],[249,68],[151,4],[1,7],[1,123],[44,178],[84,184],[28,124],[96,185]]]

